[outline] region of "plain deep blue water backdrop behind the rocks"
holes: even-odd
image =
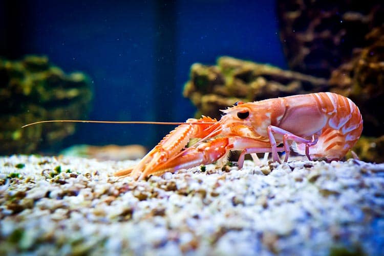
[[[193,117],[182,89],[195,62],[227,55],[287,68],[273,1],[33,1],[23,8],[25,40],[11,57],[46,55],[66,73],[88,74],[91,120]],[[153,147],[171,129],[79,124],[64,146]]]

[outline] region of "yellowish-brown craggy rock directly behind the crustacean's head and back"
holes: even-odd
[[[196,63],[183,94],[201,114],[220,118],[219,109],[237,101],[251,102],[328,89],[326,79],[284,71],[278,67],[231,57],[220,57],[217,65]]]

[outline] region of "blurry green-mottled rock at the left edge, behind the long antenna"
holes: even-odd
[[[0,59],[0,154],[36,152],[74,133],[71,123],[21,127],[40,120],[83,118],[91,99],[86,75],[66,75],[47,57]]]

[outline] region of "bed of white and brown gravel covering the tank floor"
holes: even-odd
[[[384,255],[384,164],[215,165],[0,157],[0,254]]]

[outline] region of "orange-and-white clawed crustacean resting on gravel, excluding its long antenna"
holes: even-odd
[[[213,162],[225,162],[231,150],[246,154],[270,152],[280,162],[292,150],[308,159],[339,160],[353,147],[362,131],[357,106],[331,92],[296,95],[257,102],[235,103],[219,121],[208,117],[188,119],[166,135],[139,163],[115,173],[141,179]],[[195,145],[187,147],[191,138]],[[195,139],[196,140],[196,139]]]

